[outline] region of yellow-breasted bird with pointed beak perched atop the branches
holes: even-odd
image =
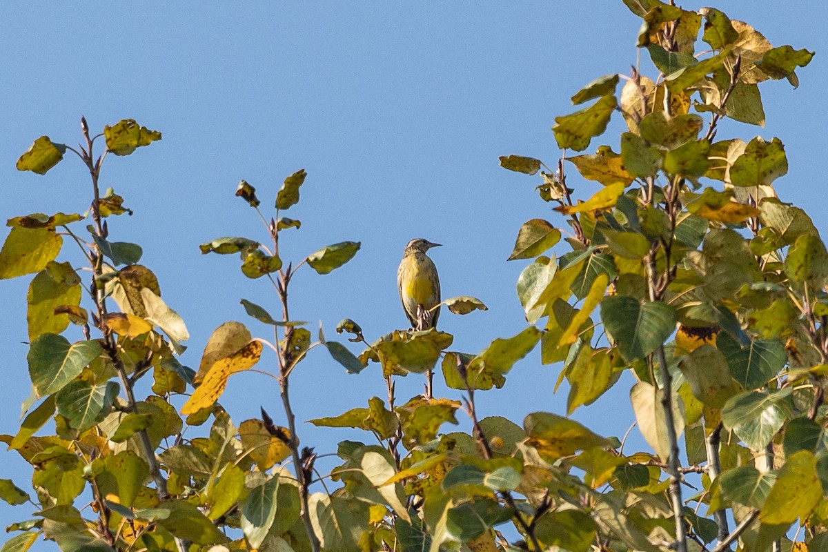
[[[416,331],[435,328],[440,316],[439,307],[431,310],[440,304],[440,278],[434,262],[426,256],[426,251],[438,246],[440,243],[431,243],[423,238],[412,239],[402,254],[397,270],[402,310],[406,311],[412,329]]]

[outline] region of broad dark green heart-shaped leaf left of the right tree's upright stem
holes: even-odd
[[[676,329],[676,310],[661,301],[641,305],[628,295],[604,297],[601,319],[627,362],[655,351]]]

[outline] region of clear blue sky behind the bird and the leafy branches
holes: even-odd
[[[798,71],[799,89],[785,81],[763,87],[766,127],[724,124],[719,137],[779,137],[790,170],[777,191],[825,229],[828,7],[762,3],[723,0],[715,7],[750,22],[774,46],[817,55]],[[686,9],[704,5],[682,2]],[[639,24],[622,2],[609,0],[202,2],[186,9],[175,2],[3,3],[0,219],[84,212],[89,178],[73,155],[46,176],[18,172],[17,157],[43,134],[77,142],[81,114],[94,130],[135,118],[163,132],[163,140],[106,160],[103,187],[113,186],[135,211],[110,219],[110,232],[113,240],[142,245],[142,264],[156,272],[164,300],[184,317],[192,337],[182,362],[197,367],[210,332],[226,320],[269,336],[238,301],[275,312],[272,288],[244,277],[238,258],[202,256],[198,245],[233,235],[266,240],[253,210],[233,197],[238,180],[256,186],[267,206],[286,175],[300,168],[308,172],[301,203],[285,215],[300,219],[302,228],[283,234],[283,258],[299,261],[346,239],[363,245],[328,276],[301,270],[291,285],[293,316],[313,321],[313,328],[321,320],[329,338],[344,317],[359,322],[369,339],[407,327],[397,263],[406,242],[421,236],[445,244],[431,255],[444,296],[475,295],[489,305],[485,313],[440,317],[441,329],[455,334],[453,348],[476,353],[526,324],[514,291],[525,263],[506,262],[517,229],[529,218],[563,224],[537,198],[538,180],[503,170],[498,156],[554,163],[560,155],[549,131],[554,117],[574,110],[569,98],[583,84],[628,73],[637,60]],[[642,67],[655,76],[646,53]],[[617,151],[622,125],[614,115],[605,141],[590,150],[609,143]],[[595,183],[580,181],[571,167],[569,173],[570,186],[584,196],[595,191]],[[79,262],[69,245],[66,252],[62,260]],[[0,433],[16,432],[29,394],[22,343],[29,280],[0,282]],[[479,393],[479,412],[518,424],[532,411],[562,413],[566,388],[552,394],[561,367],[543,367],[539,358],[535,351],[520,362],[503,391]],[[258,367],[274,362],[266,356]],[[292,382],[299,420],[385,396],[376,365],[349,376],[321,349]],[[623,435],[633,420],[623,383],[575,418],[602,434]],[[421,379],[407,378],[397,392],[406,401],[421,392]],[[445,396],[460,398],[457,391]],[[261,375],[231,378],[222,402],[237,424],[258,416],[260,405],[282,421],[277,386]],[[300,431],[303,444],[320,454],[334,452],[340,439],[369,437],[310,425]],[[0,458],[0,478],[28,489],[31,473],[17,454]],[[0,502],[0,525],[29,513]]]

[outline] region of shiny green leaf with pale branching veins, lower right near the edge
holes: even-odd
[[[781,391],[746,391],[734,396],[722,409],[724,429],[735,431],[749,449],[763,450],[790,415],[784,400],[791,392],[791,387],[785,387]]]

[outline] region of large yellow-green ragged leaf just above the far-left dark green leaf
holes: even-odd
[[[29,340],[40,334],[60,334],[69,316],[55,314],[64,305],[80,305],[80,279],[68,262],[51,262],[35,276],[26,294]]]

